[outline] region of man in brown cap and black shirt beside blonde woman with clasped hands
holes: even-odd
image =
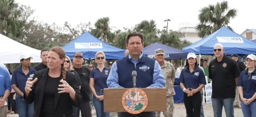
[[[77,109],[77,117],[79,117],[80,110],[82,117],[92,117],[92,109],[90,108],[90,87],[89,87],[89,75],[90,69],[83,66],[83,54],[81,52],[76,52],[73,58],[74,70],[78,73],[82,87],[80,89],[83,95],[83,102]]]

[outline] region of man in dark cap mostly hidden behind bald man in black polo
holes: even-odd
[[[244,64],[242,61],[238,60],[238,55],[237,55],[237,54],[232,54],[232,55],[231,55],[231,59],[233,59],[233,60],[236,61],[237,65],[238,65],[238,67],[239,67],[240,72],[242,72],[242,71],[245,70],[246,66],[245,66],[245,64]],[[240,107],[240,106],[239,106],[239,103],[240,103],[240,101],[239,101],[239,93],[238,93],[238,87],[237,87],[237,88],[235,89],[235,102],[234,102],[234,107]]]

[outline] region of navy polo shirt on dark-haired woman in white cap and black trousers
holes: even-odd
[[[178,82],[184,83],[185,88],[196,89],[200,84],[206,84],[205,74],[200,68],[196,68],[192,73],[185,68],[182,69]]]

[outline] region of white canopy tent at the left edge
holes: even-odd
[[[22,53],[28,53],[33,59],[31,63],[40,63],[41,51],[23,45],[13,39],[0,34],[0,62],[3,64],[20,63],[19,57]]]

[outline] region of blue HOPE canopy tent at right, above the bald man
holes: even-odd
[[[220,43],[225,49],[224,54],[237,53],[239,56],[256,54],[256,43],[223,26],[207,37],[182,48],[183,51],[195,54],[214,55],[214,45]]]

